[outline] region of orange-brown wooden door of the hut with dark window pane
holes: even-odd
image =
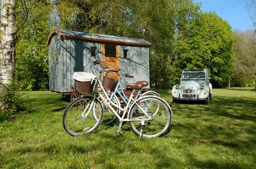
[[[102,60],[104,65],[108,65],[109,69],[115,69],[116,67],[120,68],[119,45],[102,44]],[[113,73],[113,75],[108,75],[108,77],[115,78],[118,81],[120,79],[116,73]]]

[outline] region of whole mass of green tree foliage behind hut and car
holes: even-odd
[[[229,24],[191,0],[18,0],[16,15],[16,78],[23,90],[48,88],[44,61],[52,28],[150,41],[155,88],[171,88],[185,68],[207,68],[214,87],[234,74]]]

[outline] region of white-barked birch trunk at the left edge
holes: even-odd
[[[2,0],[0,80],[4,84],[10,84],[15,70],[15,8],[16,0]]]

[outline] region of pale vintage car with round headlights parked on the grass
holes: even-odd
[[[212,100],[212,84],[206,69],[185,69],[181,74],[180,84],[172,87],[172,99],[198,100],[209,104]]]

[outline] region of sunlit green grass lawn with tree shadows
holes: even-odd
[[[72,137],[62,126],[68,102],[50,91],[24,92],[28,109],[0,123],[0,168],[256,168],[256,91],[214,89],[209,105],[172,103],[171,131],[142,138],[123,125]]]

